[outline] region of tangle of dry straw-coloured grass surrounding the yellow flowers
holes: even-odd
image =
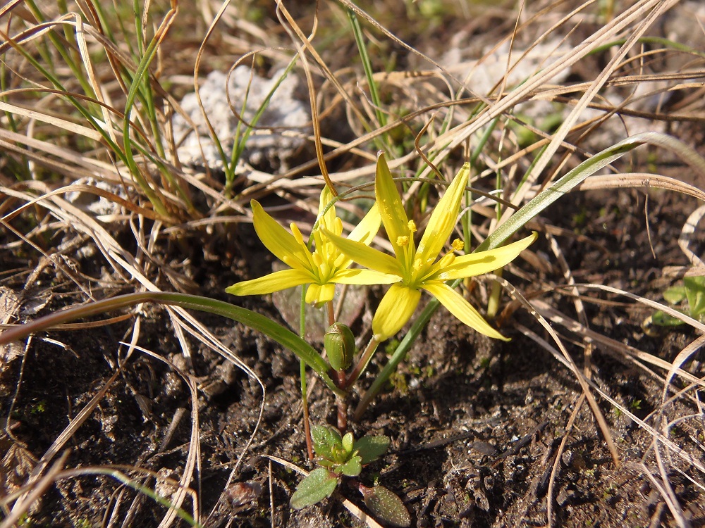
[[[488,6],[418,0],[387,2],[369,11],[348,0],[310,5],[171,0],[135,6],[140,11],[93,0],[47,5],[13,0],[0,8],[4,329],[131,292],[200,291],[225,298],[221,291],[233,281],[223,276],[257,275],[262,265],[251,270],[247,255],[257,253],[247,241],[250,199],[266,203],[282,219],[311,222],[324,181],[338,189],[369,184],[375,153],[384,149],[393,170],[416,178],[404,190],[422,225],[436,199],[429,181],[450,180],[470,159],[472,221],[462,227],[477,244],[511,218],[516,222],[517,209],[544,189],[556,193],[539,216],[520,210],[521,225],[541,232],[545,242],[520,267],[508,269],[513,284],[496,277],[476,284],[473,293],[487,306],[492,289],[501,284],[508,302],[501,310],[488,310],[499,313],[506,328],[535,341],[579,387],[572,412],[563,416],[558,445],[545,453],[551,468],[547,498],[534,501],[542,504],[540,522],[584,522],[577,514],[556,513],[566,503],[557,498],[556,483],[565,471],[561,463],[578,435],[573,427],[584,403],[611,463],[627,465],[654,490],[656,498],[643,498],[651,525],[703,522],[705,505],[697,496],[705,487],[700,360],[705,326],[687,309],[661,302],[668,285],[702,276],[705,268],[705,14],[699,3]],[[362,53],[358,61],[360,50],[367,56]],[[286,71],[298,83],[292,93],[309,109],[309,122],[295,130],[257,124],[267,105],[276,106],[275,91],[249,113],[247,101],[227,101],[239,124],[233,137],[217,137],[210,110],[202,107],[198,135],[210,139],[221,163],[183,163],[184,138],[175,137],[173,118],[197,124],[180,101],[199,93],[208,73],[234,75],[238,65],[247,66],[250,82]],[[638,133],[643,135],[623,149],[613,149]],[[298,140],[286,160],[248,157],[248,141],[277,134]],[[561,177],[591,159],[602,161],[584,181],[560,187]],[[644,209],[635,201],[615,213],[617,189],[638,196]],[[594,209],[560,208],[575,206],[565,198],[569,193],[591,196],[588,207]],[[678,196],[668,202],[673,218],[685,215],[678,239],[673,229],[660,230],[649,220],[649,203],[663,205],[666,193]],[[595,205],[601,201],[608,210]],[[351,219],[359,217],[359,203],[345,207]],[[627,215],[646,218],[639,254],[654,253],[650,262],[621,253],[630,244],[624,232],[615,235],[623,246],[601,247],[605,233],[620,232]],[[582,260],[571,255],[578,246],[586,256]],[[590,251],[610,261],[611,269],[621,262],[618,279],[595,272]],[[672,356],[663,356],[663,349],[642,350],[618,332],[601,331],[610,325],[592,328],[594,313],[603,323],[614,310],[627,314],[620,318],[632,318],[633,332],[640,332],[651,310],[670,313],[689,329],[670,330],[685,342]],[[281,479],[271,460],[283,464],[281,458],[272,456],[258,466],[267,471],[257,483],[243,477],[252,472],[248,460],[279,451],[268,451],[271,444],[258,436],[272,381],[263,379],[261,365],[243,358],[243,351],[262,354],[272,346],[238,331],[231,337],[235,344],[227,344],[187,310],[140,305],[1,345],[0,528],[51,519],[67,526],[303,524],[288,514],[286,501],[275,504]],[[166,352],[163,344],[175,348]],[[202,416],[212,419],[221,410],[213,403],[217,394],[208,392],[214,379],[198,374],[204,351],[212,354],[206,357],[226,358],[251,380],[252,394],[238,395],[255,409],[243,439],[204,434]],[[648,413],[638,412],[634,401],[615,398],[608,367],[593,361],[597,351],[648,380]],[[49,361],[48,355],[56,358]],[[67,366],[74,360],[75,367]],[[55,365],[61,361],[68,363]],[[62,377],[56,386],[49,381],[54,368]],[[34,369],[42,375],[30,375]],[[67,383],[63,377],[73,369],[75,379]],[[100,375],[90,377],[92,370]],[[47,385],[27,386],[27,379]],[[227,386],[229,378],[223,379],[215,381]],[[176,394],[169,384],[185,391],[179,405],[167,403]],[[37,396],[42,391],[44,398]],[[116,394],[131,395],[131,409],[142,425],[128,420],[128,427],[124,415],[106,413],[104,408],[118,405]],[[613,440],[619,428],[615,413],[646,435],[635,450]],[[176,448],[172,440],[187,416],[188,440]],[[151,432],[145,433],[144,446],[121,436],[144,431],[145,424]],[[296,430],[287,420],[272,427]],[[398,425],[397,433],[404,427]],[[525,438],[531,441],[536,434]],[[94,438],[114,448],[92,451]],[[276,434],[271,438],[276,441]],[[232,460],[203,458],[204,443],[218,442],[225,444],[223,452],[234,453]],[[217,484],[204,477],[223,469],[228,476]],[[82,486],[89,490],[83,503],[76,498]],[[474,499],[479,501],[477,495]],[[348,498],[341,501],[353,515],[375,524]],[[413,502],[411,508],[419,525],[429,522],[423,504]],[[512,522],[498,509],[488,506],[494,514],[478,525],[522,522],[522,507],[516,507]],[[228,520],[223,511],[235,517]],[[452,521],[462,524],[463,518],[469,517],[458,514]],[[616,526],[623,519],[603,522]]]

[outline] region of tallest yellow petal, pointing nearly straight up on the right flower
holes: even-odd
[[[396,183],[392,180],[392,174],[389,172],[384,152],[380,152],[377,156],[374,195],[379,204],[379,214],[387,232],[387,238],[392,243],[396,256],[403,259],[405,249],[398,246],[397,241],[409,236],[409,219],[401,201],[401,196],[399,196],[399,191],[396,188]]]

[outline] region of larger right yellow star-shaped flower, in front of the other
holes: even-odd
[[[508,246],[462,256],[453,253],[461,251],[463,247],[462,241],[455,239],[451,244],[453,251],[439,258],[457,222],[469,174],[470,165],[465,163],[436,205],[417,247],[414,243],[416,225],[413,220],[408,220],[384,154],[380,154],[377,158],[374,194],[395,256],[343,239],[333,232],[326,232],[333,244],[355,262],[400,278],[400,282],[392,284],[388,289],[372,319],[372,332],[376,341],[388,339],[405,325],[419,304],[422,289],[436,297],[450,313],[477,332],[507,340],[446,281],[482,275],[503,267],[532,244],[537,233]]]

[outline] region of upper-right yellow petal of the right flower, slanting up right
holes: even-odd
[[[462,201],[462,194],[465,191],[469,175],[470,163],[465,163],[431,214],[429,223],[424,230],[424,236],[416,250],[416,254],[422,262],[431,258],[435,260],[450,237],[450,233],[453,232],[453,227],[458,221],[460,201]]]

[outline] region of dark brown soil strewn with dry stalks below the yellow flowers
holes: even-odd
[[[580,80],[582,73],[572,75]],[[704,153],[701,121],[670,126],[669,132]],[[705,188],[680,161],[668,158],[659,164],[648,156],[632,161],[635,172],[651,170]],[[541,218],[541,237],[531,248],[535,260],[517,260],[503,277],[530,301],[577,319],[574,301],[558,287],[565,278],[544,237],[551,232],[577,282],[661,301],[663,290],[676,282],[663,274],[664,268],[689,265],[678,239],[700,205],[661,189],[571,192]],[[128,230],[125,225],[116,229]],[[705,249],[702,233],[697,227],[690,245],[697,254]],[[55,237],[73,240],[75,234],[59,230]],[[235,299],[223,291],[270,269],[272,257],[252,226],[231,224],[208,237],[204,242],[202,230],[181,232],[157,241],[155,253],[161,262],[178,263],[199,294],[286,324],[270,296]],[[129,243],[128,234],[123,238]],[[20,306],[15,322],[85,301],[71,277],[51,265],[34,277],[34,289],[25,289],[27,273],[13,270],[24,270],[27,262],[34,269],[41,256],[14,241],[0,230],[0,286],[4,299]],[[94,258],[92,244],[86,240],[66,254],[72,270],[99,277],[104,263]],[[483,306],[478,299],[484,288],[480,284],[474,291],[477,306]],[[129,285],[116,284],[98,296],[128,291]],[[358,332],[369,332],[364,321],[381,291],[368,292]],[[357,436],[391,439],[386,455],[362,473],[362,482],[379,479],[393,490],[419,527],[675,527],[684,520],[692,527],[705,525],[703,474],[697,467],[705,463],[702,390],[690,388],[664,403],[668,370],[637,358],[641,352],[673,362],[697,332],[685,325],[646,332],[642,323],[650,308],[605,292],[583,289],[581,294],[589,329],[623,348],[596,339],[586,345],[582,335],[555,321],[553,327],[581,369],[586,346],[591,351],[590,377],[615,402],[593,393],[618,464],[575,375],[532,339],[530,332],[551,341],[534,315],[523,308],[506,313],[501,330],[511,341],[502,343],[474,333],[441,308],[386,391],[352,424]],[[204,526],[365,525],[343,505],[347,498],[364,510],[360,494],[346,484],[312,508],[289,507],[301,476],[279,459],[313,469],[305,455],[298,360],[247,327],[216,316],[195,317],[241,365],[191,336],[184,337],[191,346],[190,358],[184,358],[168,313],[149,305],[139,318],[43,332],[26,347],[1,349],[0,497],[17,491],[36,467],[50,465],[61,453],[66,453],[61,467],[76,470],[47,483],[19,526],[160,526],[167,508],[144,489],[173,496],[173,483],[193,464],[195,479],[189,485]],[[138,347],[128,353],[137,324]],[[385,363],[380,349],[360,382],[363,389]],[[702,379],[702,352],[683,368]],[[313,375],[309,386],[313,422],[333,423],[336,405],[330,392]],[[666,398],[687,388],[679,377]],[[91,409],[85,416],[84,408]],[[71,423],[78,427],[67,429]],[[662,433],[660,440],[654,431]],[[87,471],[106,467],[144,489]],[[192,510],[192,499],[182,508]],[[185,520],[172,525],[189,526]]]

